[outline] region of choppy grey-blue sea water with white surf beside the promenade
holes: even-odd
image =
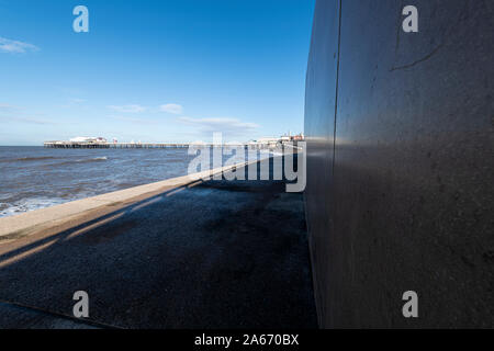
[[[193,158],[187,149],[0,146],[0,217],[186,176]]]

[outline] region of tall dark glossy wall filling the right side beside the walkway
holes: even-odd
[[[402,30],[407,4],[418,33]],[[487,0],[317,1],[305,200],[321,327],[494,327],[493,19]]]

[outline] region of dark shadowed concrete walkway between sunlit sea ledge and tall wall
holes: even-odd
[[[282,181],[199,181],[88,216],[0,240],[0,328],[316,327],[303,199]]]

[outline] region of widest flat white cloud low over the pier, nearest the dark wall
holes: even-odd
[[[242,122],[237,118],[191,118],[191,117],[179,117],[179,121],[199,126],[203,132],[223,132],[231,135],[245,134],[259,128],[256,123]]]

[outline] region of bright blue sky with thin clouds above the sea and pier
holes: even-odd
[[[314,2],[0,0],[0,145],[303,132]]]

